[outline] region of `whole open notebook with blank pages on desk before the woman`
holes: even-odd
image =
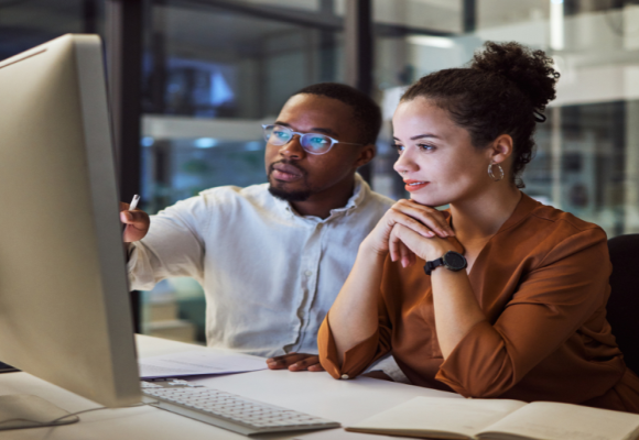
[[[635,440],[639,415],[550,402],[415,397],[346,430],[463,440]]]

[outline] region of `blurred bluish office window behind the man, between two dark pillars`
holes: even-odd
[[[142,201],[154,213],[221,186],[266,182],[261,123],[291,94],[342,81],[333,1],[165,1],[145,16]],[[340,23],[340,22],[339,22]],[[193,279],[143,295],[144,332],[205,342]]]

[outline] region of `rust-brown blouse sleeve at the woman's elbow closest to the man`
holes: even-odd
[[[387,274],[388,260],[385,265]],[[317,333],[320,362],[335,378],[353,378],[361,374],[371,363],[390,352],[391,324],[382,295],[378,296],[378,327],[367,339],[344,353],[344,363],[339,365],[337,348],[331,330],[331,310],[326,315]]]

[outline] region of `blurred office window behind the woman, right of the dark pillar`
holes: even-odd
[[[392,172],[390,118],[404,87],[463,66],[487,40],[517,41],[551,55],[557,99],[538,124],[524,193],[602,226],[639,230],[639,6],[587,0],[397,0],[375,2],[376,82],[386,127],[373,184],[403,194]],[[393,9],[394,8],[394,9]],[[418,9],[437,20],[420,23]],[[392,23],[396,33],[385,30]],[[381,24],[381,26],[379,25]]]

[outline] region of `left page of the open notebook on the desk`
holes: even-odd
[[[415,397],[353,427],[367,432],[454,432],[467,438],[526,406],[518,400]],[[414,433],[413,433],[414,435]]]

